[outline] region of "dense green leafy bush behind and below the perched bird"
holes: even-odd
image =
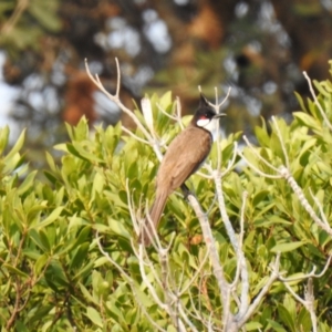
[[[332,118],[332,84],[315,86],[319,104],[308,101],[304,106],[299,97],[305,112],[294,113],[290,124],[282,118],[262,123],[256,128],[258,147],[247,146],[236,156],[240,134],[214,146],[212,167],[218,147],[220,170],[229,166],[221,188],[226,215],[216,204],[216,181],[200,175],[189,181],[207,211],[225,279],[235,281],[229,317],[240,321],[241,303],[252,304],[246,309],[247,331],[311,331],[312,312],[319,331],[330,331],[331,269],[319,278],[310,274],[315,295],[311,312],[289,289],[304,299],[305,273],[313,267],[322,271],[331,251],[331,234],[313,217],[328,221],[332,212],[331,126],[319,111],[321,105]],[[156,135],[169,142],[180,131],[159,111],[172,113],[170,94],[153,96],[151,103]],[[135,114],[145,124],[146,117]],[[123,135],[118,124],[98,126],[92,134],[82,118],[68,132],[70,142],[55,146],[63,153],[61,165],[46,153],[48,181],[41,181],[20,154],[24,133],[7,151],[9,129],[0,131],[2,331],[219,331],[227,325],[227,303],[199,218],[180,195],[169,197],[158,229],[162,243],[170,248],[145,252],[137,243],[135,230],[146,199],[153,198],[158,167],[142,131],[135,137]],[[237,164],[241,158],[248,164]],[[289,170],[286,176],[281,165]],[[239,277],[241,256],[229,240],[225,216],[239,234],[248,280]],[[278,259],[284,274],[276,270]],[[246,282],[247,297],[241,297]]]

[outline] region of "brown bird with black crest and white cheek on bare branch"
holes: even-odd
[[[189,125],[179,133],[168,146],[156,177],[155,200],[149,210],[149,218],[143,221],[139,242],[151,246],[168,196],[181,188],[185,196],[189,189],[185,181],[203,165],[210,153],[216,121],[224,113],[216,113],[207,98],[200,93],[199,106]],[[154,229],[155,230],[154,230]]]

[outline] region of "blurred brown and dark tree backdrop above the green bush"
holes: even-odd
[[[34,164],[65,135],[64,121],[116,123],[120,111],[92,85],[84,59],[112,92],[117,56],[127,106],[170,90],[190,113],[197,85],[209,98],[231,86],[227,131],[250,134],[260,116],[299,108],[303,70],[328,76],[331,17],[331,0],[2,0],[2,79],[17,87],[10,116],[29,128]]]

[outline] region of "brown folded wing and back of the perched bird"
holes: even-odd
[[[169,145],[157,176],[157,188],[178,188],[208,156],[211,135],[201,128],[187,127]]]

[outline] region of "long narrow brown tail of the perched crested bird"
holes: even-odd
[[[155,232],[157,231],[157,226],[165,208],[167,197],[167,193],[157,193],[156,199],[149,210],[151,220],[148,220],[148,217],[146,217],[144,220],[144,225],[139,235],[139,242],[145,247],[148,247],[155,237]]]

